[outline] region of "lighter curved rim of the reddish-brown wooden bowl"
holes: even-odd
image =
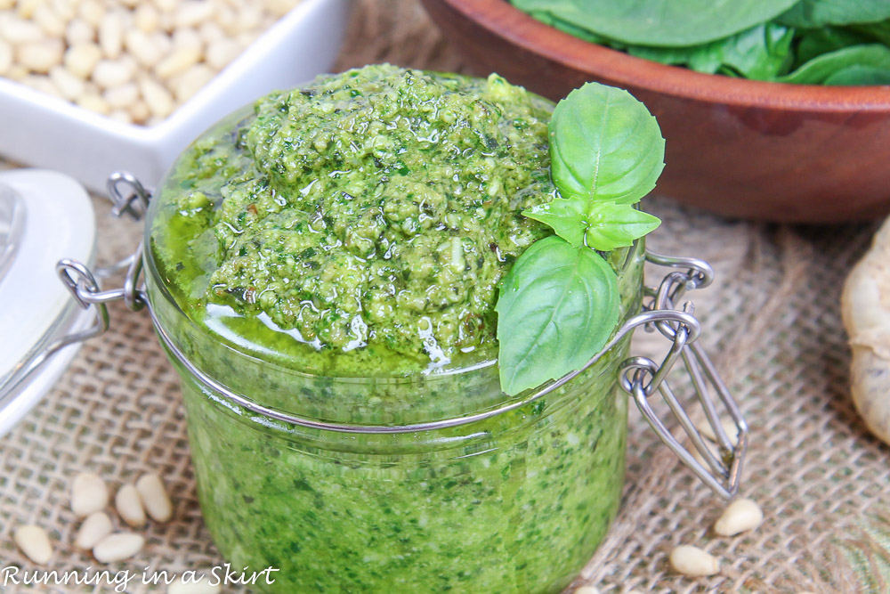
[[[890,86],[790,85],[704,74],[635,58],[535,20],[507,0],[443,2],[530,53],[622,86],[699,102],[787,111],[890,111]]]

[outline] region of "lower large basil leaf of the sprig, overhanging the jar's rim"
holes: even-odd
[[[498,366],[508,395],[580,369],[618,323],[618,280],[595,251],[550,236],[526,249],[498,296]]]

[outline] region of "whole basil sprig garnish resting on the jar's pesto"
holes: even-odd
[[[558,195],[522,214],[553,228],[506,275],[498,363],[508,395],[578,370],[619,317],[618,277],[596,250],[631,245],[660,221],[633,205],[664,168],[658,122],[627,91],[587,83],[556,105],[550,174]]]

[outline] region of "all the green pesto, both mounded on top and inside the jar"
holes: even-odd
[[[549,234],[520,212],[553,195],[551,109],[499,77],[372,66],[233,115],[152,204],[159,325],[224,385],[313,418],[503,403],[496,366],[457,370],[494,358],[498,281]],[[606,256],[624,320],[642,242]],[[626,356],[627,339],[536,403],[400,435],[264,419],[179,368],[207,528],[233,566],[279,568],[260,591],[558,592],[618,509]]]

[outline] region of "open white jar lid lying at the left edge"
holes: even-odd
[[[92,264],[93,204],[72,177],[41,169],[0,173],[0,435],[46,392],[77,352],[66,346],[30,373],[46,346],[90,325],[56,273],[74,257]]]

